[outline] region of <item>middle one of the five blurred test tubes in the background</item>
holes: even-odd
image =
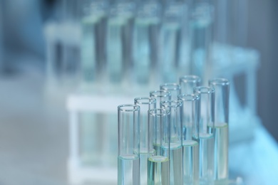
[[[133,75],[140,87],[155,83],[160,55],[160,1],[140,1],[134,23]]]

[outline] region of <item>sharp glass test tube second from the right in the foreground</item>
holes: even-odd
[[[213,184],[215,90],[206,86],[198,86],[194,90],[200,96],[200,184]]]

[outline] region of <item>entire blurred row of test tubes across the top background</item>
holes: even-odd
[[[69,81],[85,90],[101,84],[115,93],[130,84],[138,91],[185,73],[206,73],[212,53],[210,0],[63,2],[66,11],[79,7],[81,14],[74,10],[66,16],[71,21],[55,39],[46,29],[49,75],[55,79],[74,78]],[[57,39],[62,43],[52,42]]]

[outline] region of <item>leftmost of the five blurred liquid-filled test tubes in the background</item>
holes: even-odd
[[[84,1],[81,16],[81,76],[83,85],[101,78],[105,63],[107,1]],[[98,80],[101,82],[101,80]]]

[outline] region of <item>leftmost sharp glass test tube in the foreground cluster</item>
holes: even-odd
[[[140,185],[140,107],[118,106],[118,185]]]

